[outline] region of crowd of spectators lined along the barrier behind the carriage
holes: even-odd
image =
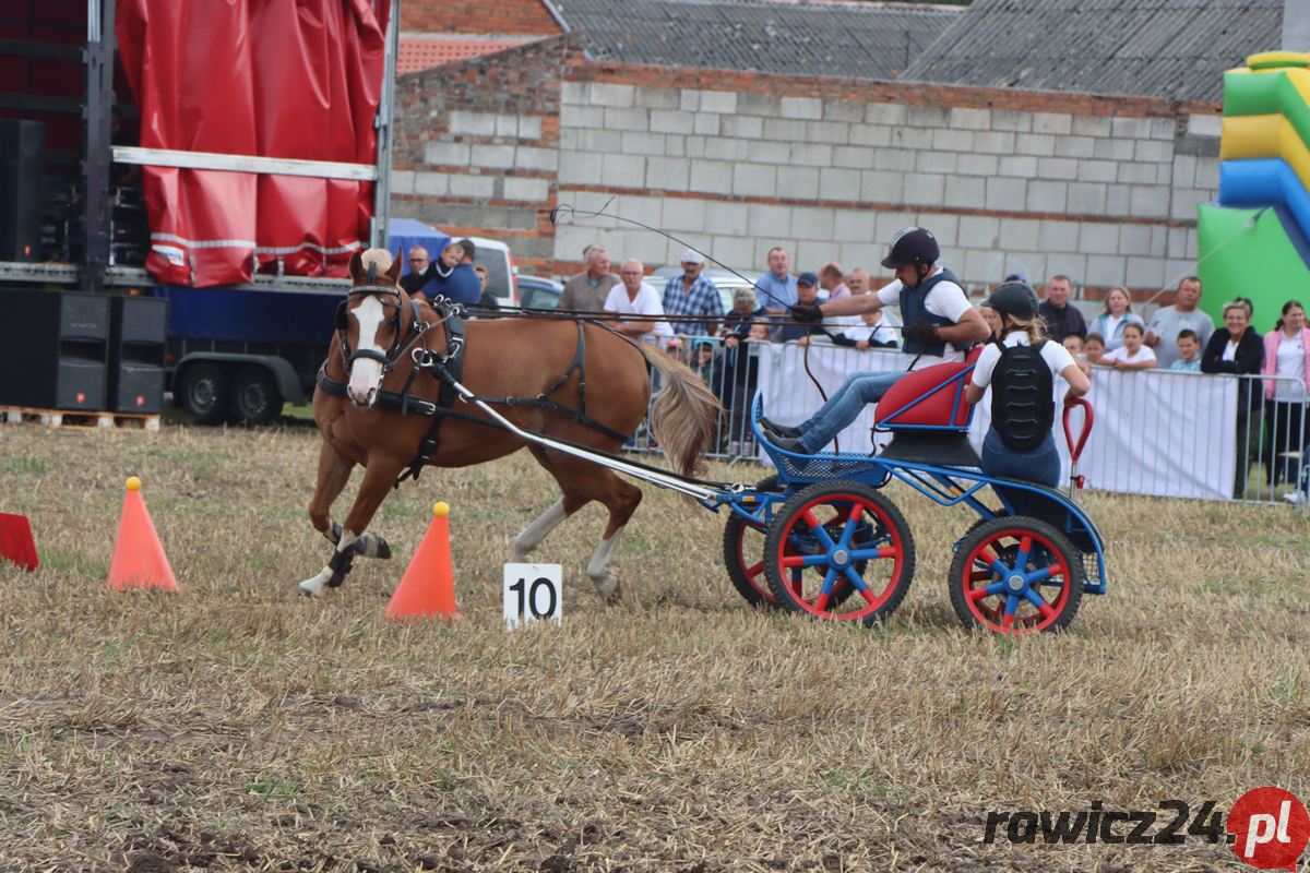
[[[634,259],[625,260],[617,275],[610,272],[609,253],[600,245],[587,247],[584,263],[586,270],[565,284],[559,309],[627,315],[629,321],[616,325],[618,330],[660,346],[705,377],[728,410],[723,450],[752,450],[747,407],[758,378],[752,344],[831,342],[858,352],[904,344],[904,329],[883,310],[829,317],[820,323],[790,319],[794,305],[867,294],[871,281],[867,270],[848,271],[836,262],[821,264],[816,272],[796,272],[782,246],[768,251],[766,268],[753,287],[735,289],[726,312],[717,285],[703,275],[705,257],[694,249],[683,253],[681,274],[667,280],[646,276],[643,264]],[[411,267],[421,271],[427,264],[411,258]],[[1120,372],[1165,369],[1268,377],[1263,398],[1259,387],[1252,387],[1258,385],[1254,380],[1243,380],[1239,387],[1234,495],[1244,492],[1250,462],[1256,458],[1271,486],[1294,479],[1301,469],[1298,458],[1310,444],[1305,393],[1310,383],[1310,329],[1298,301],[1288,301],[1277,327],[1260,336],[1250,327],[1251,302],[1244,298],[1224,308],[1224,325],[1216,329],[1199,308],[1201,280],[1196,276],[1183,279],[1172,305],[1157,309],[1149,323],[1133,312],[1132,294],[1124,287],[1106,293],[1103,312],[1089,323],[1073,302],[1073,291],[1068,275],[1052,275],[1038,314],[1045,335],[1064,346],[1085,373],[1104,366]],[[998,338],[1001,322],[996,313],[981,308],[980,314]],[[1268,436],[1262,436],[1263,428],[1268,428]],[[1300,487],[1288,493],[1289,501],[1310,500],[1305,483],[1293,484]]]

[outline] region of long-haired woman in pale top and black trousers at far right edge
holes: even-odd
[[[1260,373],[1285,377],[1264,380],[1269,440],[1263,454],[1269,484],[1275,486],[1284,479],[1294,480],[1297,463],[1286,455],[1305,453],[1306,442],[1310,442],[1310,428],[1306,427],[1310,421],[1305,415],[1306,385],[1310,385],[1310,329],[1306,327],[1306,310],[1301,301],[1282,304],[1282,318],[1264,335]]]

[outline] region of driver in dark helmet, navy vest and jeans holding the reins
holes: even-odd
[[[829,315],[857,315],[899,305],[905,322],[904,349],[914,355],[909,370],[852,373],[799,427],[790,428],[762,419],[774,445],[787,452],[815,454],[854,421],[866,403],[875,403],[908,372],[933,364],[964,360],[965,349],[990,334],[986,322],[969,305],[959,279],[937,264],[942,251],[924,228],[905,228],[892,240],[883,266],[896,272],[895,281],[872,294],[844,297],[819,305],[791,308],[798,321],[817,322]]]

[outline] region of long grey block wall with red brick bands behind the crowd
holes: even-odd
[[[1066,272],[1145,296],[1195,271],[1196,204],[1218,187],[1217,106],[597,64],[576,43],[548,43],[414,82],[427,127],[409,134],[426,143],[405,169],[415,171],[411,202],[427,212],[398,215],[453,208],[469,228],[524,236],[517,212],[532,205],[586,209],[614,198],[620,215],[744,270],[761,270],[773,245],[789,246],[796,268],[876,267],[896,230],[922,224],[972,284]],[[512,148],[481,118],[534,124],[550,113],[549,139],[542,128]],[[418,207],[428,192],[452,199]],[[538,215],[532,230],[529,257],[548,272],[576,268],[595,240],[651,266],[681,250],[608,220],[550,228]]]

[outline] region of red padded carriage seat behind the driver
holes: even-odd
[[[982,347],[975,346],[963,361],[908,373],[883,395],[874,410],[874,429],[893,436],[880,458],[943,467],[982,466],[969,445],[973,407],[964,399],[981,353]]]

